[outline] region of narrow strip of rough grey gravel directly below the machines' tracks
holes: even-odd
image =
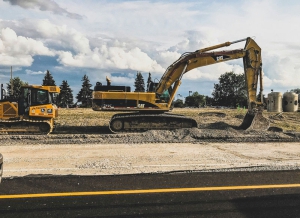
[[[82,127],[86,129],[86,127]],[[86,130],[85,130],[86,131]],[[79,131],[80,132],[80,131]],[[225,129],[150,130],[127,134],[51,134],[51,135],[0,135],[2,146],[16,143],[43,144],[143,144],[143,143],[199,143],[199,142],[300,142],[297,132],[244,131]]]

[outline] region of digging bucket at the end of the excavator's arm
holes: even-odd
[[[240,128],[244,130],[265,131],[270,127],[270,122],[262,115],[262,110],[248,111]]]

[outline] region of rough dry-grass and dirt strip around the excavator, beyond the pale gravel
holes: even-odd
[[[239,125],[245,110],[177,109],[173,111],[195,119],[198,128],[150,130],[142,133],[112,134],[108,128],[113,113],[91,109],[60,109],[57,127],[50,135],[0,135],[2,146],[23,144],[144,144],[199,142],[300,141],[300,113],[268,113],[270,131],[244,131]]]

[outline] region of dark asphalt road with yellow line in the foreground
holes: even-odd
[[[0,217],[300,217],[300,171],[5,178]]]

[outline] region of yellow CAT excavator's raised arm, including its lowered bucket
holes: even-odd
[[[217,48],[230,46],[231,44],[241,41],[246,41],[244,49],[211,51]],[[262,117],[263,103],[256,101],[258,81],[260,83],[261,93],[263,90],[261,48],[250,37],[233,42],[225,42],[219,45],[200,49],[195,52],[184,53],[177,61],[175,61],[167,68],[157,86],[156,94],[159,96],[166,90],[169,90],[169,104],[171,104],[178,90],[178,87],[181,84],[181,78],[183,74],[194,68],[239,58],[243,58],[248,96],[248,113],[241,127],[247,129],[252,125],[253,128],[267,129],[269,127],[269,122]],[[260,115],[256,116],[257,113],[259,113]],[[254,123],[259,122],[257,119],[255,119],[256,117],[259,117],[259,119],[263,120],[263,123],[261,123],[260,126],[254,127]]]

